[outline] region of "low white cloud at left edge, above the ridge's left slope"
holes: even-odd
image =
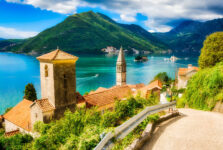
[[[14,28],[6,28],[0,26],[0,37],[5,39],[24,39],[37,35],[38,32],[34,31],[20,31]]]

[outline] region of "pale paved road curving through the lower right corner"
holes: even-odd
[[[223,150],[223,114],[179,111],[182,116],[160,124],[142,150]]]

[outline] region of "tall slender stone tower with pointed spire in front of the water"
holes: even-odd
[[[122,47],[120,48],[116,63],[116,85],[126,84],[126,62]]]

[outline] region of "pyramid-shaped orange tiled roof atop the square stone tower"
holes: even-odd
[[[77,60],[78,57],[68,54],[59,49],[37,57],[38,60]]]

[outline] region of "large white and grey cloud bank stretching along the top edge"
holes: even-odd
[[[58,13],[75,13],[78,6],[100,7],[134,22],[137,13],[149,18],[146,25],[155,31],[167,31],[167,22],[177,19],[210,20],[223,17],[222,0],[7,0],[30,4]],[[155,23],[151,23],[153,20]]]

